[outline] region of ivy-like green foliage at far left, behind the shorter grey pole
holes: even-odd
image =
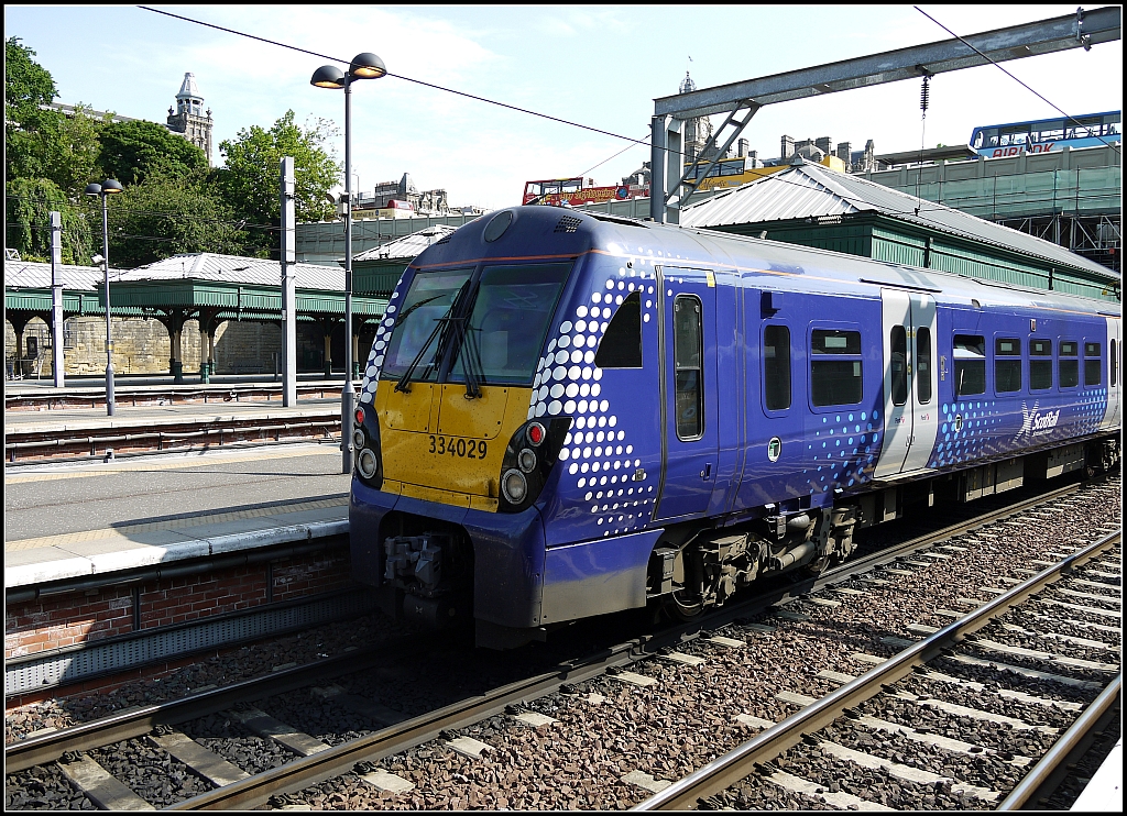
[[[5,245],[28,261],[51,260],[51,210],[62,219],[63,263],[88,264],[89,222],[59,186],[47,179],[12,179],[5,186]]]

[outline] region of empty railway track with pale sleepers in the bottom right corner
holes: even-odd
[[[1042,609],[1046,604],[1068,603],[1067,608],[1074,612],[1083,610],[1082,615],[1100,618],[1107,611],[1110,612],[1108,619],[1115,619],[1116,612],[1110,610],[1119,603],[1117,594],[1112,594],[1118,591],[1118,584],[1103,579],[1109,573],[1104,572],[1107,563],[1099,562],[1099,558],[1111,555],[1118,563],[1119,546],[1121,532],[1103,536],[920,642],[885,638],[885,643],[902,647],[903,651],[889,658],[859,653],[857,658],[862,665],[877,664],[862,676],[840,672],[819,673],[819,678],[831,683],[842,683],[841,688],[824,697],[815,699],[791,691],[781,692],[778,696],[780,700],[801,706],[798,712],[781,723],[764,720],[764,730],[754,739],[668,786],[636,809],[681,810],[700,804],[707,805],[709,809],[754,807],[756,800],[762,800],[765,787],[798,795],[799,801],[808,799],[843,809],[905,809],[903,799],[907,799],[907,807],[949,807],[952,804],[968,806],[968,800],[977,799],[991,804],[1001,801],[1001,809],[1020,808],[1029,800],[1041,779],[1059,764],[1061,757],[1067,755],[1067,748],[1071,747],[1067,743],[1072,742],[1074,735],[1086,733],[1089,720],[1099,718],[1115,703],[1122,681],[1116,638],[1107,637],[1111,633],[1091,627],[1089,634],[1103,631],[1106,639],[1061,635],[1050,625],[1049,616],[1036,609],[1035,597],[1055,586],[1055,598],[1083,599],[1100,606],[1081,607],[1068,601],[1040,600]],[[1095,562],[1097,570],[1082,570],[1092,562]],[[1090,577],[1083,577],[1085,575]],[[1097,580],[1093,581],[1092,577]],[[1118,579],[1116,575],[1116,580]],[[1032,620],[1046,625],[1033,630],[1000,622],[1012,611],[1020,611],[1027,626]],[[986,627],[991,627],[990,636],[976,634]],[[1014,633],[1018,635],[1015,638]],[[994,639],[999,636],[1001,639]],[[1061,652],[1029,649],[1014,645],[1013,640],[1049,642],[1057,647],[1064,644],[1082,645],[1090,652],[1102,653],[1104,660],[1115,662],[1074,657],[1067,654],[1067,648]],[[1003,662],[1006,660],[1013,662]],[[967,676],[971,672],[967,672],[966,667],[977,670],[973,672],[974,680]],[[1073,672],[1058,673],[1062,667]],[[1075,676],[1077,673],[1085,673],[1092,679],[1079,679]],[[1098,678],[1100,673],[1115,673],[1115,678],[1107,682],[1108,679]],[[1003,687],[1002,681],[1008,680],[1011,674],[1037,682],[1053,696],[1030,694]],[[1059,716],[1020,718],[988,710],[985,706],[964,706],[948,699],[957,697],[959,691],[956,694],[941,691],[935,693],[943,685],[961,690],[967,697],[974,697],[973,692],[977,692],[979,698],[993,698],[992,702],[1000,703],[997,708],[1041,708],[1058,712]],[[1058,699],[1070,696],[1072,690],[1100,690],[1101,693],[1088,706]],[[907,705],[889,705],[891,700]],[[1005,702],[1011,705],[1005,706]],[[1075,730],[1036,721],[1059,720],[1076,711],[1084,711],[1084,716]],[[951,730],[958,732],[959,737],[948,736]],[[1044,737],[1054,737],[1064,732],[1068,741],[1062,748],[1056,747],[1057,741],[1051,741],[1046,761],[1035,763],[1026,752],[1008,750],[1006,745],[1018,742],[1012,738],[1012,732],[1015,730]],[[1003,736],[1005,732],[1011,733],[1010,741]],[[1032,770],[1022,773],[1022,782],[1002,801],[1004,791],[980,784],[984,774],[974,774],[974,782],[961,781],[952,775],[928,770],[922,766],[928,764],[925,762],[898,762],[895,756],[888,755],[887,743],[880,745],[884,741],[873,739],[867,734],[891,734],[903,742],[912,741],[971,757],[979,755],[1013,769],[1032,765]],[[1035,742],[1028,739],[1020,744],[1030,746]],[[802,750],[788,753],[797,745],[804,746]],[[870,752],[858,751],[851,745],[880,747]],[[869,772],[870,775],[860,778],[857,770],[844,768],[846,764],[861,769],[862,773]],[[1003,769],[992,770],[1001,770],[999,775],[1006,779]],[[985,775],[990,777],[991,770]],[[851,788],[855,792],[851,792]],[[905,791],[908,796],[902,799],[898,795]],[[941,801],[944,797],[947,800]]]

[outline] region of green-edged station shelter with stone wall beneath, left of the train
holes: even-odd
[[[299,371],[320,369],[330,376],[334,365],[343,371],[344,270],[296,263],[294,272]],[[95,374],[105,368],[106,359],[104,271],[64,264],[61,278],[66,373]],[[278,261],[207,252],[177,254],[137,269],[110,269],[115,370],[169,371],[178,383],[194,371],[207,382],[216,370],[277,370],[281,278]],[[363,359],[360,349],[371,343],[385,306],[385,297],[354,287],[354,361]],[[50,263],[5,261],[5,311],[8,377],[51,376]]]

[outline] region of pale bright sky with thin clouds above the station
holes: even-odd
[[[168,6],[154,7],[349,61],[379,54],[394,74],[638,140],[656,97],[690,71],[698,88],[949,38],[912,6]],[[921,6],[960,35],[1075,12],[1075,6]],[[137,7],[6,6],[55,79],[56,101],[165,122],[195,74],[219,144],[287,109],[331,119],[344,156],[344,95],[310,86],[329,60]],[[1122,107],[1121,41],[1004,63],[1071,115]],[[343,65],[341,65],[343,68]],[[965,144],[977,125],[1057,113],[995,66],[940,74],[921,122],[920,81],[761,109],[743,133],[761,158],[783,134],[877,152]],[[715,117],[719,125],[721,117]],[[524,182],[586,173],[598,183],[649,160],[648,146],[426,88],[396,77],[353,86],[354,189],[409,172],[451,205],[518,204]],[[629,147],[611,159],[624,147]],[[610,160],[609,160],[610,159]],[[607,161],[609,160],[609,161]],[[594,168],[594,169],[592,169]]]

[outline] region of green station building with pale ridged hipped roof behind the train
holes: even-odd
[[[686,207],[681,225],[1104,301],[1122,283],[1051,241],[801,161]]]

